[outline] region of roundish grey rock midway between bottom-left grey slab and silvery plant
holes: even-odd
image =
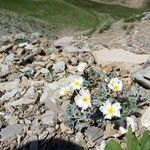
[[[40,117],[43,124],[54,127],[57,122],[57,114],[53,111],[47,111]]]

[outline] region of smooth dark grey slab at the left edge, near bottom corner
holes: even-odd
[[[0,135],[2,140],[16,138],[17,134],[21,134],[23,124],[8,125],[6,128],[1,129]]]

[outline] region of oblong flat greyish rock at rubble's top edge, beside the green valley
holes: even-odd
[[[54,46],[56,48],[59,47],[66,47],[68,45],[71,45],[73,43],[73,37],[72,36],[67,36],[67,37],[63,37],[58,39],[57,41],[54,42]]]

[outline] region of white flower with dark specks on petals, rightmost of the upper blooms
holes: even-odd
[[[118,78],[113,78],[110,80],[108,87],[110,89],[112,89],[113,91],[117,92],[117,91],[121,91],[123,88],[123,84],[122,81],[119,80]]]

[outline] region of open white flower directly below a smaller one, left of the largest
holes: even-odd
[[[91,95],[88,90],[81,90],[80,93],[75,97],[75,103],[82,110],[91,107]]]

